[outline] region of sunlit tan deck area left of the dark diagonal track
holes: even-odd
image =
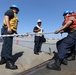
[[[1,52],[2,44],[0,43],[0,52]],[[28,70],[48,59],[51,59],[53,55],[49,55],[47,53],[40,53],[39,55],[35,55],[33,53],[33,49],[27,48],[24,46],[13,45],[13,57],[14,62],[18,66],[17,70],[6,69],[5,65],[0,65],[0,75],[17,75],[24,70]]]

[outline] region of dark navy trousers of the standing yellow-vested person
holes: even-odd
[[[7,32],[7,28],[3,27],[1,29],[2,35],[10,35],[13,34]],[[13,37],[3,37],[3,45],[2,45],[2,51],[1,51],[1,57],[5,58],[6,60],[12,60],[12,44],[13,44]]]

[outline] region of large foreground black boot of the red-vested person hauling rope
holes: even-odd
[[[55,62],[53,64],[51,64],[51,63],[48,64],[47,68],[51,69],[51,70],[58,70],[58,71],[60,71],[61,70],[60,65],[61,65],[61,60],[57,58],[57,59],[55,59]]]

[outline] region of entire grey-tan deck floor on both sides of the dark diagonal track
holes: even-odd
[[[0,49],[2,44],[0,43]],[[1,52],[1,51],[0,51]],[[39,55],[33,54],[33,49],[25,46],[13,46],[14,62],[18,66],[17,70],[10,70],[0,65],[0,75],[17,75],[20,72],[28,70],[38,64],[41,64],[53,57],[48,53],[40,53]],[[51,61],[52,63],[52,61]],[[49,70],[46,66],[36,70],[35,72],[26,75],[76,75],[76,60],[68,61],[68,65],[61,65],[61,71]]]

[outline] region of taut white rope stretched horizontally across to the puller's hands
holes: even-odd
[[[46,32],[46,33],[26,33],[26,34],[10,34],[10,35],[0,35],[0,37],[18,37],[18,36],[29,36],[36,34],[54,34],[54,32]]]

